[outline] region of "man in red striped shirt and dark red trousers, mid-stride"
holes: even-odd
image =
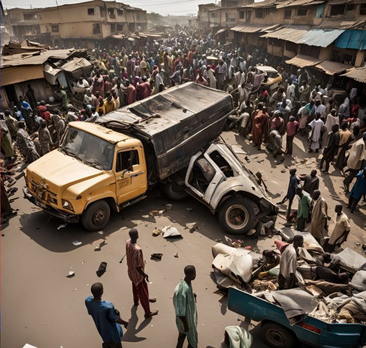
[[[158,314],[158,310],[152,312],[150,310],[149,301],[154,302],[156,299],[149,299],[149,290],[147,282],[149,276],[145,273],[145,262],[142,255],[142,249],[137,245],[138,231],[132,228],[128,232],[130,239],[126,241],[126,260],[128,277],[132,282],[133,304],[141,306],[145,311],[145,318]]]

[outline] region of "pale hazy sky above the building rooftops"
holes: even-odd
[[[84,2],[81,0],[57,0],[59,5],[66,3],[78,3]],[[217,0],[218,3],[219,0]],[[48,7],[56,6],[56,0],[32,0],[32,7]],[[215,2],[215,0],[126,0],[123,2],[130,6],[139,7],[145,9],[148,12],[158,12],[162,15],[185,15],[198,12],[198,4]],[[26,0],[3,0],[2,5],[4,8],[23,7],[30,8],[29,2]]]

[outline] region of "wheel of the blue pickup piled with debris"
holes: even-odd
[[[262,340],[273,348],[292,348],[295,347],[297,341],[290,330],[274,322],[262,324],[260,334]]]

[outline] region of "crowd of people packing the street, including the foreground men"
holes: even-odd
[[[179,26],[170,28],[166,38],[147,39],[140,41],[140,45],[128,44],[111,50],[95,49],[92,55],[93,71],[89,76],[80,76],[74,84],[80,105],[70,103],[68,91],[59,87],[55,93],[60,107],[50,109],[45,100],[37,101],[28,85],[13,110],[1,113],[1,154],[5,161],[14,161],[21,155],[32,163],[58,147],[69,122],[96,122],[102,115],[166,88],[195,82],[233,96],[238,131],[257,150],[268,150],[274,158],[284,159],[293,155],[294,139],[298,137],[309,153],[321,156],[321,172],[329,174],[332,164],[335,171],[347,174],[343,183],[349,194],[350,213],[354,213],[362,198],[366,200],[366,95],[352,82],[345,87],[344,94],[333,95],[331,84],[311,75],[308,69],[282,66],[262,48],[245,52],[241,44],[227,45],[210,36],[202,37],[197,29]],[[261,66],[271,66],[277,75],[269,77]],[[296,229],[307,229],[320,243],[327,235],[329,216],[327,202],[319,190],[317,171],[299,176],[296,172],[290,170],[287,194],[278,204],[288,200],[287,220],[296,219]],[[291,210],[295,196],[299,198],[297,212]],[[341,245],[350,232],[350,221],[342,205],[337,204],[335,212],[335,226],[323,245],[328,252]],[[140,301],[145,316],[153,316],[158,312],[150,311],[145,281],[148,278],[142,253],[136,246],[137,231],[130,231],[130,236],[126,250],[134,304]],[[297,237],[282,256],[282,288],[299,282],[288,264],[302,243]],[[177,347],[182,347],[185,337],[189,347],[197,347],[197,333],[190,331],[196,325],[195,297],[190,284],[195,269],[188,266],[184,273],[184,281],[174,295],[180,332]],[[112,343],[121,343],[122,329],[115,324],[111,327],[111,323],[126,326],[127,322],[118,311],[111,310],[113,304],[102,301],[102,284],[94,284],[92,294],[86,306],[104,342],[111,343],[106,347],[120,347]],[[184,306],[182,299],[187,301]],[[101,311],[109,313],[109,323],[98,321]]]

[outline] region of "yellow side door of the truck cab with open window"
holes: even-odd
[[[146,167],[141,147],[123,149],[117,153],[115,175],[118,204],[146,192]]]

